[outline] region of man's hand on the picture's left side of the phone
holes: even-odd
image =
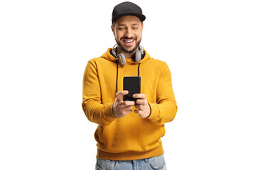
[[[113,113],[116,118],[123,118],[125,115],[132,113],[134,101],[123,101],[123,96],[128,94],[128,91],[118,91],[113,104]]]

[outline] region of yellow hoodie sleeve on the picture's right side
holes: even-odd
[[[171,85],[171,72],[165,62],[161,66],[156,97],[156,103],[149,103],[151,115],[148,119],[156,125],[164,125],[174,120],[178,108]]]

